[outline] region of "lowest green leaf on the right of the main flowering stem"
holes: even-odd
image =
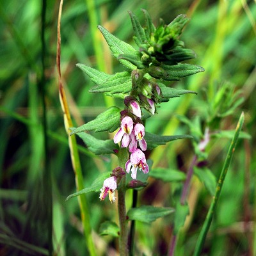
[[[138,220],[145,223],[151,223],[157,220],[157,218],[164,217],[173,213],[173,208],[166,207],[154,207],[152,205],[143,205],[137,208],[131,208],[127,212],[129,220]]]

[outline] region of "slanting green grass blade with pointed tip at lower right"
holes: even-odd
[[[209,208],[206,219],[204,221],[204,225],[202,227],[202,230],[201,230],[201,232],[199,234],[199,237],[198,237],[198,240],[196,242],[194,256],[199,256],[201,251],[202,251],[202,248],[204,246],[205,237],[206,237],[207,232],[210,228],[212,218],[213,218],[214,212],[216,210],[216,205],[217,205],[217,202],[220,198],[221,188],[223,186],[224,179],[226,177],[228,168],[230,166],[232,156],[234,155],[234,151],[235,151],[235,148],[236,148],[239,132],[242,129],[243,122],[244,122],[244,113],[242,113],[240,118],[239,118],[239,121],[238,121],[237,127],[236,127],[236,133],[234,134],[234,137],[233,137],[233,139],[230,143],[230,147],[228,149],[228,154],[227,154],[227,157],[225,159],[225,163],[223,165],[223,168],[221,170],[220,179],[218,180],[215,195],[213,196],[213,200],[211,202],[211,206]]]

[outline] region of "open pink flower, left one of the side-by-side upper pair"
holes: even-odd
[[[130,142],[130,135],[133,129],[133,121],[130,116],[125,116],[122,119],[121,127],[114,136],[114,142],[119,143],[122,140],[121,146],[123,148],[128,147]]]

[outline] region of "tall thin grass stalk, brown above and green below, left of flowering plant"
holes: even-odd
[[[79,159],[79,152],[78,152],[78,148],[77,148],[76,137],[69,136],[69,134],[70,134],[69,128],[73,127],[73,124],[72,124],[72,120],[71,120],[71,116],[70,116],[70,111],[68,108],[66,93],[65,93],[65,90],[64,90],[62,82],[61,82],[60,21],[61,21],[62,5],[63,5],[63,0],[60,1],[60,10],[59,10],[59,15],[58,15],[58,40],[57,40],[57,55],[56,55],[56,62],[57,62],[57,69],[58,69],[58,81],[59,81],[58,85],[59,85],[61,108],[63,110],[65,129],[68,134],[68,143],[69,143],[69,147],[70,147],[72,166],[73,166],[73,170],[75,173],[76,189],[77,189],[77,191],[80,191],[83,189],[83,173],[82,173],[82,168],[81,168],[80,159]],[[86,244],[88,246],[88,251],[89,251],[90,255],[94,256],[97,254],[96,254],[95,246],[93,244],[93,239],[92,239],[92,229],[91,229],[91,225],[90,225],[90,214],[89,214],[88,204],[86,201],[86,196],[85,195],[77,196],[77,199],[78,199],[79,207],[80,207],[80,211],[81,211],[81,220],[83,223],[84,237],[86,240]]]

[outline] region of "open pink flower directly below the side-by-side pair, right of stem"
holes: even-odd
[[[132,179],[136,179],[138,168],[142,170],[143,173],[148,173],[146,157],[139,148],[132,152],[130,159],[125,164],[126,172],[129,173],[131,170]]]

